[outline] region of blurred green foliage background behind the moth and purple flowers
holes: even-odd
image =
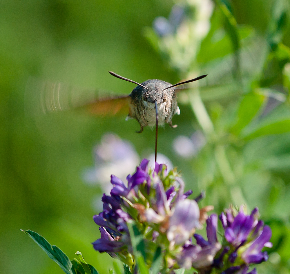
[[[160,128],[158,151],[186,189],[206,190],[202,205],[258,206],[274,244],[259,273],[290,273],[289,1],[2,0],[0,10],[0,273],[62,273],[20,229],[70,258],[81,251],[100,274],[112,267],[90,244],[102,187],[82,174],[104,133],[141,158],[154,151],[154,132],[136,134],[125,117],[24,112],[29,76],[129,94],[134,85],[108,70],[139,83],[209,74],[180,94],[178,127]],[[183,157],[177,140],[193,152]]]

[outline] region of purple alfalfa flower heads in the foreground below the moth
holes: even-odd
[[[199,208],[203,194],[189,199],[192,191],[184,192],[176,169],[167,171],[166,165],[155,163],[152,170],[144,159],[127,181],[126,186],[111,176],[113,188],[110,195],[102,197],[103,211],[94,216],[101,226],[101,238],[93,246],[119,258],[132,271],[137,264],[136,252],[142,254],[148,268],[159,253],[161,273],[191,267],[199,273],[247,273],[249,266],[267,260],[267,252],[261,250],[271,245],[271,229],[258,220],[258,209],[250,215],[243,207],[239,212],[230,208],[222,213],[221,244],[218,216],[207,215],[213,207]],[[205,222],[207,240],[195,233]],[[132,237],[138,238],[137,244]]]

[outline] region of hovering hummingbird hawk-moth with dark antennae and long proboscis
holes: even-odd
[[[170,127],[177,127],[177,125],[172,125],[173,115],[180,114],[177,105],[177,89],[175,87],[200,80],[206,77],[207,74],[171,85],[170,83],[157,79],[147,80],[139,84],[114,72],[109,73],[117,78],[134,83],[137,86],[129,95],[97,98],[81,107],[85,107],[90,113],[97,115],[116,114],[127,107],[127,119],[136,119],[140,125],[140,130],[137,131],[138,133],[141,133],[146,126],[156,125],[156,161],[158,125],[167,123]],[[30,85],[32,84],[28,84],[28,86]],[[29,87],[26,87],[27,89]],[[33,87],[33,89],[36,88]],[[76,107],[72,103],[72,98],[69,98],[70,92],[71,89],[62,84],[43,82],[38,96],[35,96],[33,100],[39,100],[39,102],[36,102],[36,105],[39,105],[42,113],[66,110],[71,107]]]

